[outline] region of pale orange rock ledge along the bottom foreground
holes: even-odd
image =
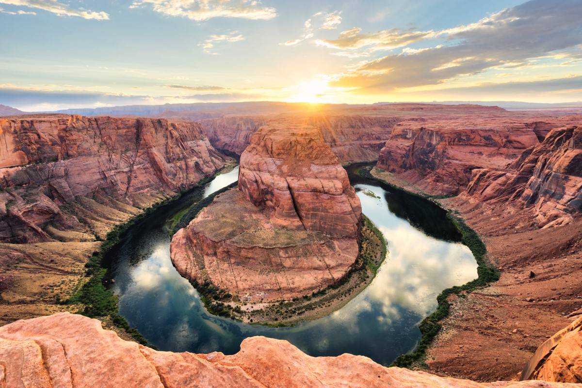
[[[101,322],[59,313],[0,328],[2,387],[576,387],[560,383],[441,378],[385,368],[367,357],[310,357],[288,341],[252,337],[239,353],[155,351]]]

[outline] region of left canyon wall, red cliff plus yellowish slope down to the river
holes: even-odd
[[[224,163],[197,123],[0,118],[0,322],[62,309],[97,239]]]

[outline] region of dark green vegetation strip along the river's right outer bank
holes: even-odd
[[[393,184],[372,176],[370,170],[371,166],[364,166],[358,170],[358,174],[368,179],[377,180],[384,184],[388,184],[389,186],[396,187]],[[422,197],[433,202],[435,202],[437,199],[448,198],[447,196],[443,195],[423,195],[413,193],[401,187],[396,188],[406,191],[410,195],[416,195],[417,197]],[[392,363],[392,366],[407,368],[413,364],[424,363],[428,347],[442,328],[440,322],[442,319],[449,315],[449,296],[457,295],[460,297],[466,297],[467,293],[488,286],[488,284],[499,280],[499,270],[495,268],[495,266],[487,258],[487,248],[485,247],[485,244],[477,232],[467,226],[463,219],[457,216],[453,211],[448,211],[447,217],[451,220],[453,225],[455,225],[456,229],[461,234],[462,243],[469,247],[471,253],[473,253],[473,256],[475,257],[475,261],[477,262],[477,279],[471,280],[471,282],[463,284],[463,286],[450,287],[449,289],[443,290],[442,293],[439,294],[437,297],[437,310],[431,315],[427,316],[427,318],[423,319],[423,321],[418,326],[422,334],[420,343],[418,343],[417,347],[411,353],[403,354],[396,358]]]

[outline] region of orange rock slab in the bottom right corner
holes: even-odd
[[[521,380],[582,383],[582,318],[538,347],[521,371]]]

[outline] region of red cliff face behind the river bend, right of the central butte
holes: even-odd
[[[537,143],[533,130],[525,127],[458,128],[419,119],[396,125],[380,151],[378,168],[430,193],[456,194],[467,186],[473,169],[501,168]]]

